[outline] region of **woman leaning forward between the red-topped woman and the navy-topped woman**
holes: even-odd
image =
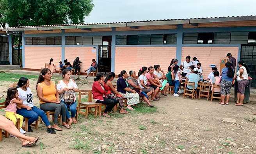
[[[106,96],[108,98],[116,99],[119,103],[120,113],[127,114],[128,112],[124,109],[123,96],[119,92],[117,92],[117,87],[115,88],[111,82],[114,80],[115,77],[116,77],[116,74],[114,72],[110,72],[105,78],[105,83],[111,90],[111,93],[106,94]]]

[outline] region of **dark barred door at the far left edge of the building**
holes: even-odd
[[[9,65],[8,37],[0,37],[0,65]]]

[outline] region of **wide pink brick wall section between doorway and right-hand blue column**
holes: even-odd
[[[167,68],[175,57],[176,47],[116,47],[115,73],[134,70],[137,74],[141,67],[154,65],[160,65],[167,73]]]

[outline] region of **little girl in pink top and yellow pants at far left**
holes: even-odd
[[[17,100],[18,98],[18,90],[16,88],[9,88],[8,91],[7,91],[7,97],[5,99],[5,106],[6,109],[5,109],[5,117],[9,120],[11,120],[14,125],[16,125],[16,122],[17,122],[17,119],[16,118],[20,118],[20,133],[21,134],[24,134],[26,133],[26,131],[24,131],[21,127],[22,127],[22,123],[23,123],[23,116],[21,115],[18,115],[16,113],[17,111],[17,108],[20,109],[19,106],[17,106],[17,104],[23,104],[23,101],[22,100]],[[15,137],[16,136],[13,136],[10,134],[10,136],[12,137]]]

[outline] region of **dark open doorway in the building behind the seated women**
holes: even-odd
[[[105,74],[111,71],[111,41],[112,36],[103,36],[102,45],[99,46],[99,71]]]

